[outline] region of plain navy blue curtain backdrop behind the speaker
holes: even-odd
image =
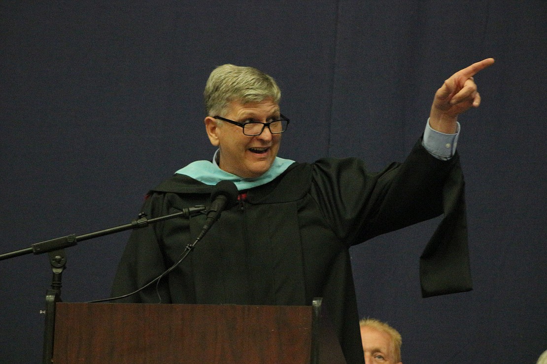
[[[136,218],[147,190],[210,159],[202,90],[217,65],[274,76],[280,157],[402,160],[433,94],[487,57],[460,118],[474,290],[422,299],[438,220],[352,248],[359,314],[405,363],[534,363],[547,349],[547,2],[0,2],[0,253]],[[62,299],[107,297],[128,233],[66,250]],[[46,254],[0,261],[0,362],[39,362]]]

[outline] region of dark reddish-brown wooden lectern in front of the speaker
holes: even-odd
[[[57,303],[54,363],[345,363],[313,306]]]

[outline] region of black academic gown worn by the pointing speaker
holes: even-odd
[[[207,205],[213,186],[174,175],[150,192],[143,212],[164,216]],[[356,158],[294,163],[247,190],[182,264],[160,282],[164,303],[311,305],[323,297],[348,363],[363,350],[350,254],[353,244],[439,216],[421,257],[423,296],[471,289],[463,177],[458,156],[438,160],[418,142],[404,163],[376,174]],[[205,216],[132,232],[113,296],[142,287],[192,243]],[[155,284],[122,302],[158,302]]]

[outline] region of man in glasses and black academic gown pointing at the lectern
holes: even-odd
[[[217,152],[151,190],[143,212],[155,218],[208,205],[223,180],[236,184],[238,202],[157,290],[152,284],[120,302],[311,305],[323,297],[347,362],[362,363],[353,244],[444,213],[421,257],[422,294],[471,289],[457,117],[479,106],[473,75],[492,63],[485,59],[447,79],[405,162],[377,173],[356,158],[277,157],[289,121],[275,81],[251,67],[216,68],[205,89],[205,127]],[[169,219],[133,231],[112,295],[131,293],[170,268],[205,219]]]

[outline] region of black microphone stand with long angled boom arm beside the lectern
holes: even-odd
[[[43,363],[51,364],[53,358],[53,341],[55,332],[55,303],[61,302],[61,278],[63,270],[66,268],[65,248],[77,245],[79,241],[90,240],[95,237],[115,234],[117,232],[139,229],[154,224],[162,220],[168,220],[176,217],[191,217],[195,213],[200,213],[205,210],[205,206],[197,205],[194,207],[185,208],[182,212],[160,216],[153,219],[147,219],[146,214],[139,213],[138,219],[133,220],[129,224],[115,226],[105,230],[90,232],[89,234],[76,236],[75,234],[58,237],[52,240],[46,240],[39,243],[31,244],[30,248],[15,250],[11,253],[0,254],[0,260],[15,258],[15,256],[25,254],[43,254],[48,253],[53,277],[51,278],[51,288],[46,291],[45,310],[40,313],[45,314],[45,329],[44,329],[44,347],[43,347]]]

